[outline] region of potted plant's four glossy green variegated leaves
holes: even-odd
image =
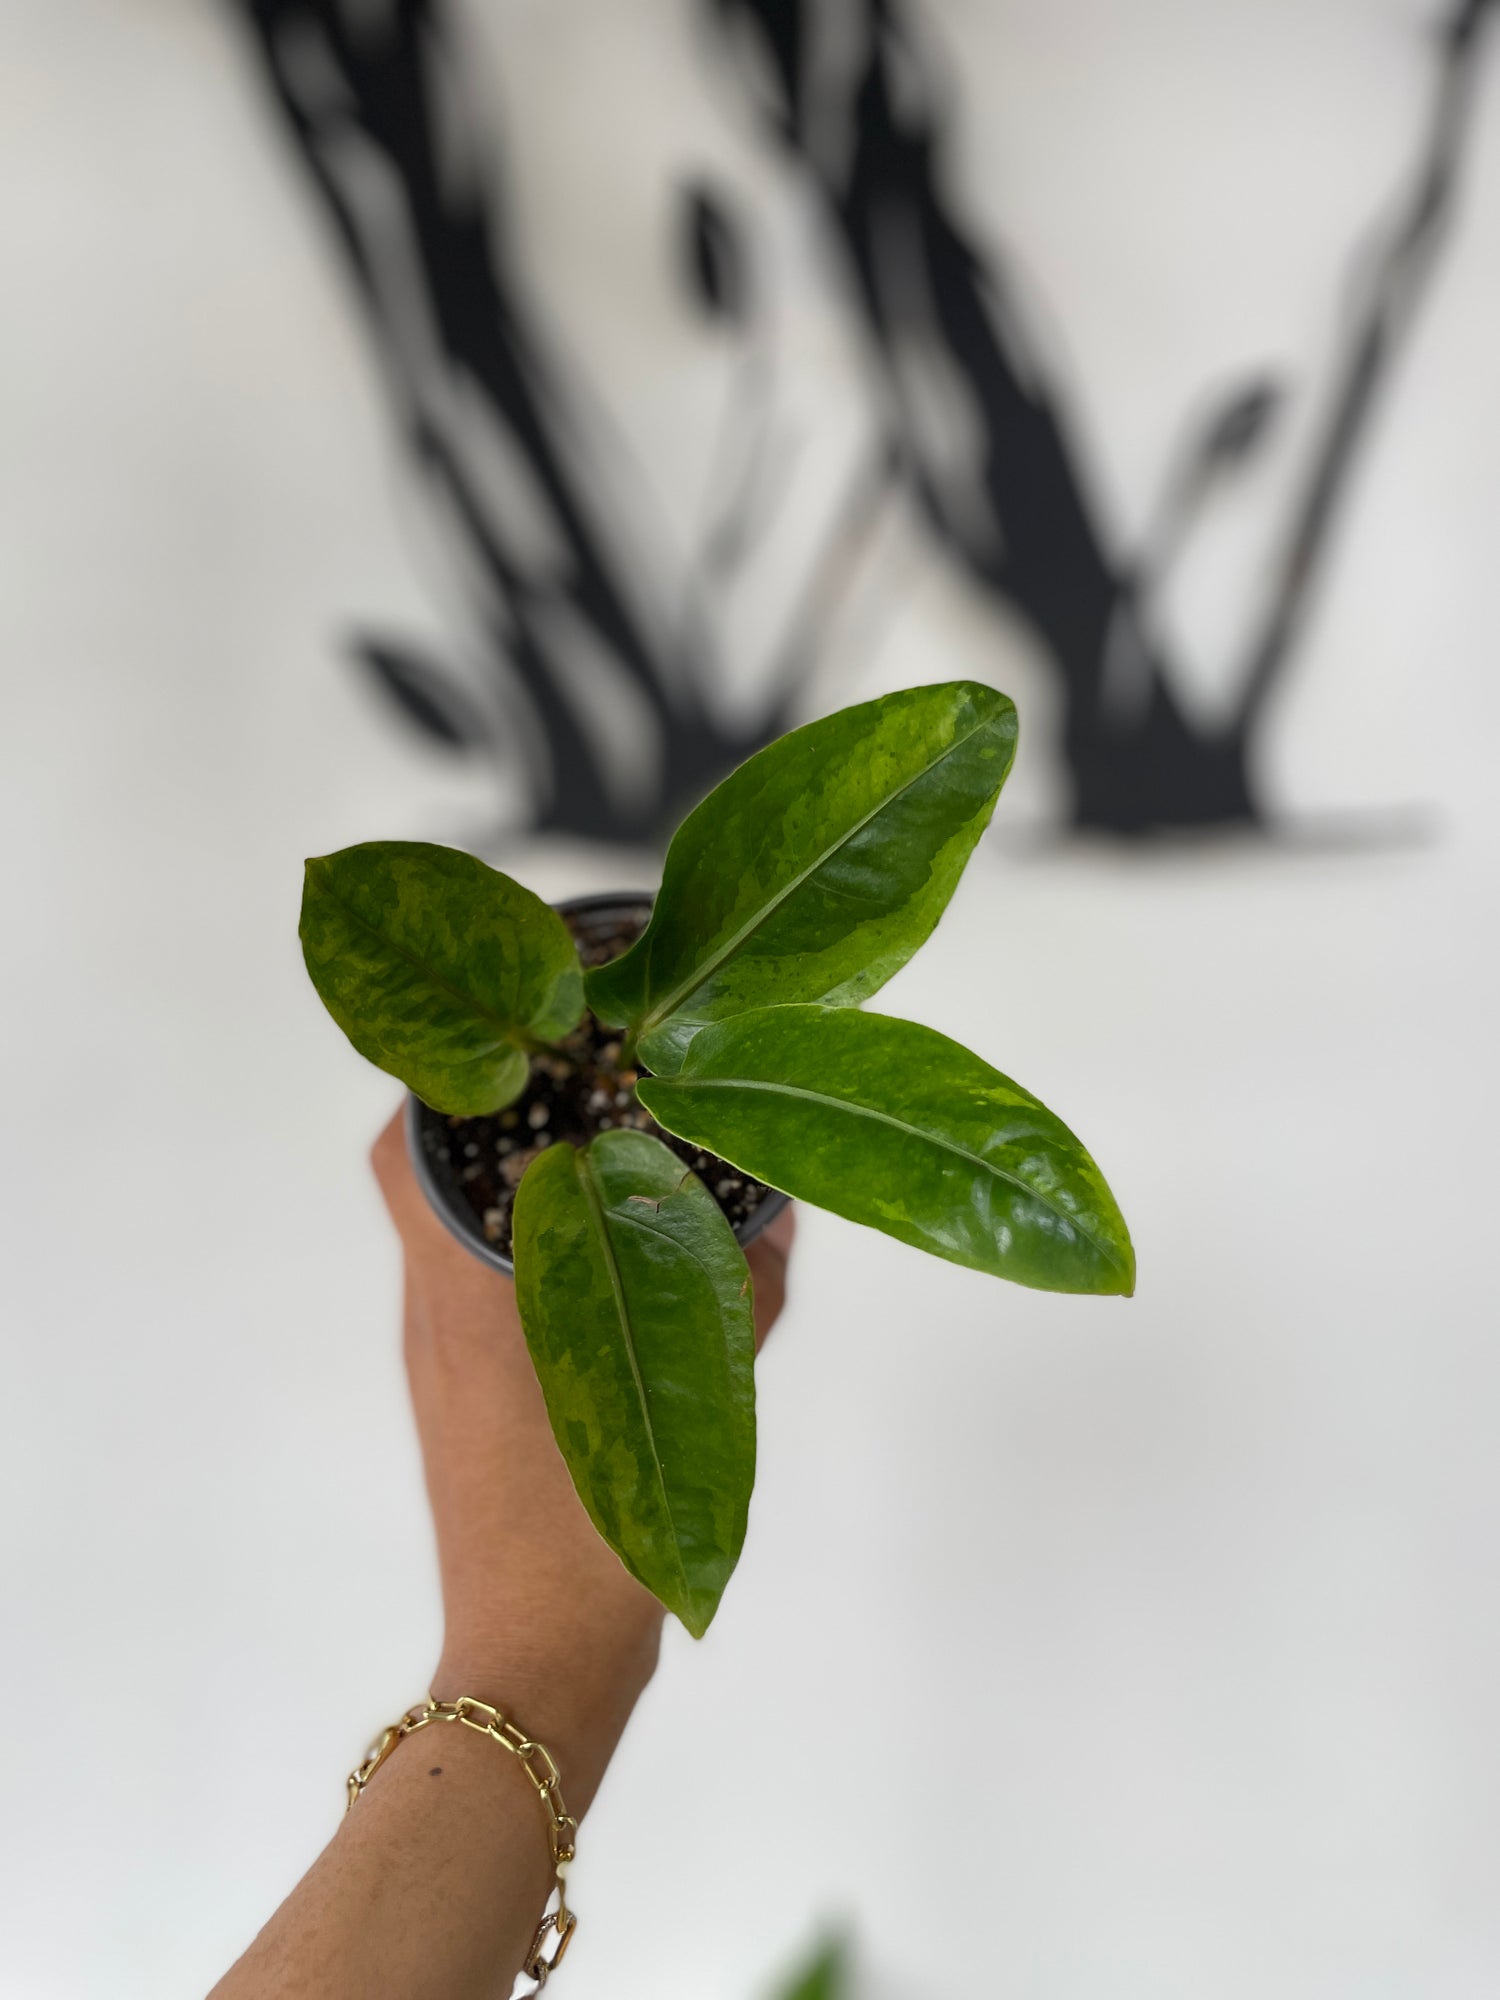
[[[452,848],[310,860],[302,948],[328,1012],[438,1112],[512,1104],[584,1010],[622,1030],[656,1124],[772,1188],[1048,1292],[1134,1288],[1090,1156],[982,1056],[862,1002],[932,934],[990,822],[1016,710],[910,688],[782,736],[678,828],[650,922],[588,974],[564,920]],[[516,1298],[596,1528],[702,1634],[744,1540],[756,1424],[744,1252],[644,1130],[536,1154]]]

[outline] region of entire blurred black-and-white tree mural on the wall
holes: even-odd
[[[538,246],[508,214],[506,120],[454,0],[238,4],[336,232],[466,634],[462,668],[380,630],[358,634],[356,658],[412,730],[494,762],[516,824],[656,842],[824,696],[858,698],[844,628],[892,510],[1036,640],[1068,824],[1116,836],[1268,824],[1264,718],[1442,274],[1492,0],[1434,0],[1410,48],[1426,102],[1392,130],[1390,178],[1338,252],[1332,366],[1314,382],[1282,360],[1180,420],[1160,440],[1156,502],[1128,530],[1100,504],[1058,340],[954,166],[974,106],[924,8],[684,8],[718,114],[774,158],[816,222],[866,410],[794,584],[760,618],[750,704],[720,698],[722,662],[756,550],[800,478],[778,422],[778,302],[752,194],[686,166],[664,218],[682,308],[732,354],[714,472],[692,532],[672,534],[650,502],[650,440],[624,448],[568,328],[538,310]],[[1292,412],[1298,464],[1234,644],[1232,698],[1206,716],[1184,700],[1192,662],[1162,594]]]

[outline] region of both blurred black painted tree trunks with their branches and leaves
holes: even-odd
[[[478,704],[400,642],[368,638],[356,650],[428,742],[496,754],[510,738],[514,766],[520,738],[538,828],[662,838],[724,770],[790,724],[854,558],[892,480],[904,480],[940,544],[1030,620],[1056,662],[1078,826],[1140,834],[1262,820],[1250,780],[1256,728],[1294,654],[1356,448],[1452,212],[1480,30],[1498,0],[1460,0],[1438,36],[1438,90],[1412,188],[1368,260],[1270,608],[1246,646],[1240,706],[1218,730],[1178,700],[1152,602],[1198,506],[1264,440],[1284,390],[1238,388],[1178,454],[1144,544],[1108,548],[1066,402],[1032,348],[1006,266],[986,264],[948,198],[952,108],[906,0],[850,0],[856,60],[842,102],[830,102],[838,80],[828,68],[806,62],[816,0],[704,0],[720,28],[758,44],[760,116],[818,188],[844,244],[888,410],[888,444],[846,494],[780,644],[766,710],[744,728],[720,724],[704,690],[712,594],[746,560],[766,508],[754,406],[766,380],[754,346],[744,466],[688,566],[682,608],[664,620],[634,588],[620,522],[602,512],[580,460],[584,398],[532,324],[496,202],[464,168],[466,156],[494,150],[494,114],[468,108],[446,0],[236,4],[344,246],[432,508],[478,580]],[[736,46],[734,34],[726,44]],[[370,202],[372,176],[384,208]],[[740,328],[754,300],[738,222],[712,190],[690,186],[684,232],[700,308]],[[402,260],[406,296],[392,276]],[[420,326],[432,330],[426,350]],[[976,420],[954,422],[954,408]],[[494,492],[496,448],[510,464],[508,502]],[[630,526],[640,536],[642,524]],[[614,720],[600,728],[622,702],[654,758],[644,784],[628,782],[638,746],[612,740]]]

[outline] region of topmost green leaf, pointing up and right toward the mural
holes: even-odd
[[[704,1022],[856,1006],[932,934],[1014,754],[1012,702],[972,680],[792,730],[682,822],[650,924],[588,974],[588,1004],[662,1076]]]

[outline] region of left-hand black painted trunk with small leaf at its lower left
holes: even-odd
[[[696,606],[652,616],[632,588],[622,524],[604,518],[578,454],[588,408],[532,322],[504,218],[464,168],[466,156],[494,156],[494,112],[468,108],[464,50],[442,0],[236,4],[336,228],[428,498],[478,578],[488,740],[520,736],[536,828],[664,838],[726,770],[788,728],[794,676],[776,680],[752,722],[722,722],[706,700],[712,650]],[[700,228],[730,310],[740,274],[730,274],[728,224],[704,214]],[[496,466],[510,486],[500,500]],[[640,522],[624,526],[642,534]],[[366,642],[362,658],[428,738],[444,736],[452,704],[426,670],[384,640]],[[622,734],[648,742],[644,784],[640,744]]]

